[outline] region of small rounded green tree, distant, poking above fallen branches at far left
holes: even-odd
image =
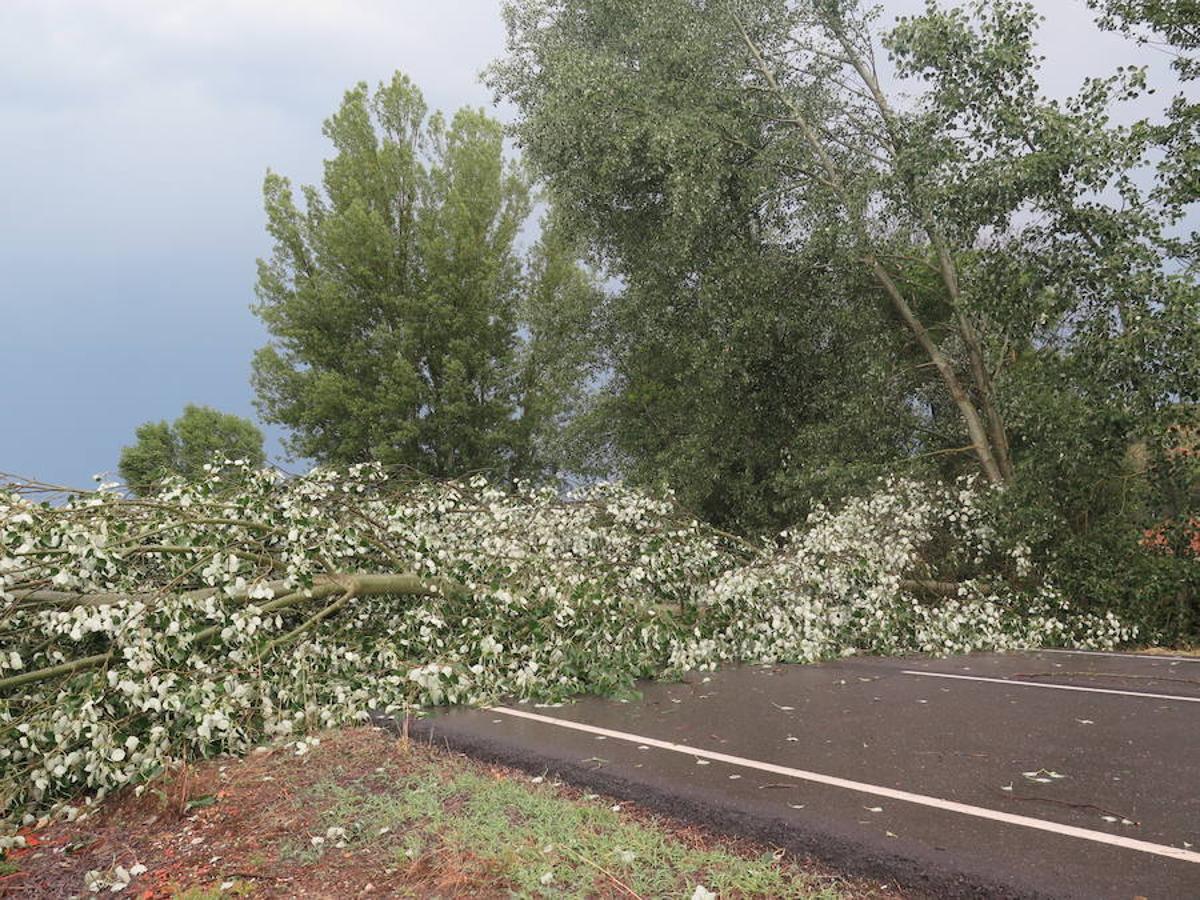
[[[245,460],[254,468],[266,462],[263,432],[240,415],[188,403],[174,422],[145,422],[136,443],[121,450],[118,470],[131,491],[145,494],[168,475],[188,481],[204,476],[217,454]]]

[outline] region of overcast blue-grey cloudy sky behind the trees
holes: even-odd
[[[397,68],[433,108],[490,104],[478,74],[503,49],[499,6],[0,0],[0,472],[86,485],[185,403],[253,418],[266,168],[317,181],[322,120]],[[1038,6],[1056,95],[1162,66],[1097,31],[1082,0]]]

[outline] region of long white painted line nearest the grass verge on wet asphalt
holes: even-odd
[[[658,738],[648,738],[643,734],[630,734],[629,732],[613,731],[612,728],[601,728],[595,725],[584,725],[583,722],[574,722],[568,719],[556,719],[554,716],[551,715],[527,713],[523,709],[512,709],[511,707],[487,707],[487,709],[488,712],[492,713],[502,713],[503,715],[511,715],[516,716],[517,719],[528,719],[535,722],[544,722],[545,725],[553,725],[559,728],[582,731],[587,734],[598,734],[606,738],[613,738],[614,740],[625,740],[630,744],[655,746],[660,750],[671,750],[677,754],[686,754],[688,756],[694,756],[702,760],[712,760],[713,762],[724,762],[727,763],[728,766],[739,766],[746,769],[769,772],[773,775],[784,775],[785,778],[794,778],[800,781],[812,781],[815,784],[827,785],[829,787],[841,787],[847,791],[857,791],[859,793],[868,793],[875,797],[887,797],[888,799],[892,800],[913,803],[919,806],[931,806],[932,809],[946,810],[948,812],[960,812],[965,816],[974,816],[976,818],[988,818],[991,820],[992,822],[1004,822],[1007,824],[1024,826],[1025,828],[1033,828],[1039,832],[1051,832],[1052,834],[1062,834],[1069,838],[1080,838],[1082,840],[1094,841],[1096,844],[1108,844],[1109,846],[1112,847],[1135,850],[1141,853],[1152,853],[1159,857],[1178,859],[1184,863],[1200,864],[1200,853],[1192,850],[1172,847],[1168,844],[1152,844],[1151,841],[1141,841],[1135,838],[1122,838],[1118,834],[1093,832],[1090,828],[1079,828],[1076,826],[1058,824],[1057,822],[1048,822],[1042,818],[1032,818],[1031,816],[1019,816],[1013,812],[1001,812],[1000,810],[988,809],[985,806],[972,806],[967,803],[958,803],[956,800],[943,800],[940,797],[926,797],[925,794],[920,793],[899,791],[894,787],[883,787],[882,785],[869,785],[864,781],[851,781],[850,779],[838,778],[835,775],[823,775],[820,772],[793,769],[791,766],[776,766],[775,763],[772,762],[761,762],[760,760],[748,760],[743,756],[731,756],[730,754],[721,754],[716,752],[715,750],[704,750],[702,748],[688,746],[686,744],[674,744],[670,740],[659,740]]]

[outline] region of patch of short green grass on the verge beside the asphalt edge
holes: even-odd
[[[611,800],[578,800],[550,784],[456,770],[444,761],[395,776],[384,768],[355,781],[323,782],[305,799],[326,806],[322,827],[346,830],[317,847],[284,848],[305,862],[344,841],[347,848],[386,850],[397,868],[448,851],[469,857],[517,896],[625,893],[619,884],[647,898],[690,898],[698,884],[720,896],[839,896],[769,853],[744,858],[691,846],[670,829],[613,811]]]

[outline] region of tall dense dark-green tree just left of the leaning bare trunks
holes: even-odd
[[[888,311],[862,302],[870,286],[839,228],[780,240],[788,223],[763,197],[787,190],[786,160],[761,151],[766,106],[713,18],[691,13],[547,7],[542,32],[550,18],[510,7],[517,52],[493,84],[524,113],[522,146],[564,229],[619,284],[598,314],[610,378],[578,422],[584,445],[756,528],[904,455],[918,425],[906,396],[928,378],[901,368]]]

